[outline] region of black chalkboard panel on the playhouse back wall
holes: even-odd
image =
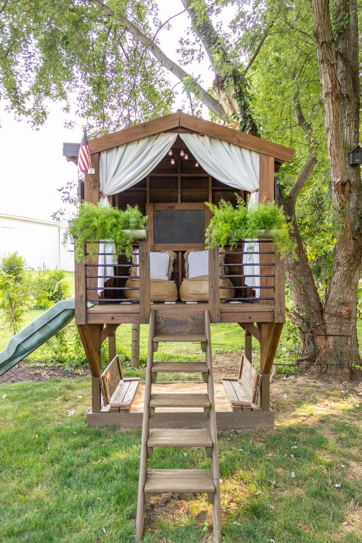
[[[205,243],[205,210],[155,210],[154,243]]]

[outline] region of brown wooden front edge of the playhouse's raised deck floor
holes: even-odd
[[[157,311],[173,311],[192,314],[195,311],[209,311],[209,304],[151,304],[151,309]],[[272,323],[274,307],[269,304],[255,303],[225,303],[220,304],[221,323]],[[138,324],[139,304],[104,304],[96,305],[87,310],[87,324]]]

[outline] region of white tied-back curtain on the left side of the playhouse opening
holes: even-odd
[[[162,157],[173,146],[177,134],[175,132],[160,132],[141,140],[131,141],[101,151],[99,156],[99,204],[108,206],[108,196],[126,191],[144,179]],[[115,245],[100,243],[98,260],[98,294],[104,290],[104,283],[114,274],[113,266],[117,259]],[[113,253],[113,254],[110,254]],[[103,276],[103,277],[101,277]]]

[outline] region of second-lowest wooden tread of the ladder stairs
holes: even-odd
[[[197,430],[173,430],[151,428],[148,434],[148,447],[212,447],[208,428]]]

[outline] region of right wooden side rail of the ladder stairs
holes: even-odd
[[[206,344],[206,364],[208,368],[207,394],[210,402],[209,430],[212,440],[211,468],[215,487],[213,500],[213,528],[215,541],[221,539],[221,508],[220,508],[220,473],[219,473],[219,453],[218,453],[218,435],[216,425],[216,410],[214,398],[214,380],[212,371],[212,349],[211,349],[211,331],[210,315],[205,311],[205,336]]]

